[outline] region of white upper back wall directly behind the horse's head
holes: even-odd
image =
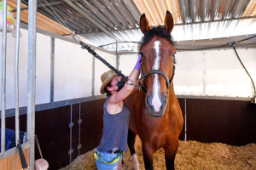
[[[256,83],[256,48],[236,48],[243,65]],[[253,98],[253,83],[233,48],[177,51],[174,91],[177,95]],[[129,74],[136,54],[120,56],[120,66]]]

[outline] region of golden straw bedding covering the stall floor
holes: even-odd
[[[136,139],[135,148],[140,169],[144,169],[141,140]],[[166,169],[165,151],[154,153],[154,169]],[[130,153],[124,153],[123,170],[132,169]],[[203,144],[196,141],[180,141],[175,159],[177,170],[185,169],[229,169],[251,170],[256,169],[256,144],[246,146],[230,146],[227,144]],[[70,165],[61,170],[96,170],[93,152],[89,151],[77,157]]]

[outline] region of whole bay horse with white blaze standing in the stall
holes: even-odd
[[[183,115],[172,82],[176,51],[171,37],[172,28],[173,19],[169,11],[166,11],[164,28],[150,29],[145,14],[140,18],[140,29],[144,34],[139,48],[142,55],[140,82],[147,92],[136,88],[125,99],[131,111],[128,146],[134,169],[139,168],[134,150],[137,134],[142,140],[147,170],[153,169],[153,155],[160,148],[165,150],[166,169],[174,169]]]

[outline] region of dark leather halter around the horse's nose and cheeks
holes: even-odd
[[[162,75],[163,77],[166,78],[166,94],[168,94],[168,89],[171,87],[172,85],[172,81],[173,81],[173,77],[175,75],[175,65],[173,65],[173,70],[172,70],[172,78],[171,80],[169,81],[169,78],[167,77],[166,73],[164,71],[160,71],[160,70],[151,70],[151,71],[148,71],[147,73],[143,74],[143,68],[142,68],[142,65],[141,65],[141,75],[142,77],[140,78],[139,82],[138,82],[138,88],[142,88],[143,89],[143,92],[145,94],[147,94],[147,88],[143,87],[142,83],[143,82],[143,79],[148,77],[149,75],[151,74],[160,74]]]

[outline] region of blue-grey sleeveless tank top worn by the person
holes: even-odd
[[[130,111],[124,104],[123,110],[118,114],[109,114],[107,111],[108,99],[103,105],[103,135],[101,143],[96,147],[96,150],[108,151],[118,147],[126,153]]]

